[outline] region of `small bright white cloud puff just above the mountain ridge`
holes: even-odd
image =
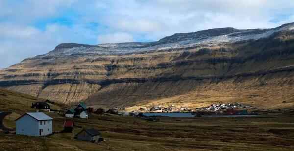
[[[98,43],[123,43],[133,42],[133,36],[128,33],[117,32],[98,36]]]

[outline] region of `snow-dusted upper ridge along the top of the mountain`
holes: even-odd
[[[156,42],[140,43],[105,43],[98,45],[62,43],[53,51],[42,56],[68,56],[79,54],[97,55],[123,55],[150,50],[166,50],[171,48],[184,48],[197,45],[218,45],[220,43],[234,43],[244,40],[258,40],[266,38],[275,32],[294,30],[294,23],[284,24],[271,29],[235,29],[216,28],[197,31],[193,33],[177,33],[167,36]]]

